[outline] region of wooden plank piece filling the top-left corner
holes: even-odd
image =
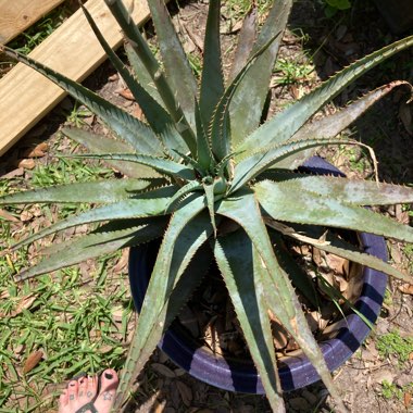
[[[0,43],[18,36],[64,0],[0,0]]]

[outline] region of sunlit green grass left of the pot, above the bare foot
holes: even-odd
[[[24,178],[1,180],[0,195],[112,174],[97,163],[58,159],[39,164]],[[10,247],[12,238],[22,237],[32,227],[85,208],[13,206],[9,212],[17,222],[0,220],[4,235],[1,248]],[[23,212],[27,222],[20,220]],[[112,271],[121,253],[16,284],[13,275],[29,265],[36,254],[36,250],[26,249],[0,256],[0,413],[46,411],[57,399],[53,384],[80,371],[118,370],[126,350],[133,304],[125,273]],[[28,366],[36,352],[41,359]]]

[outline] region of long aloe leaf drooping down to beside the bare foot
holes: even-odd
[[[166,315],[170,317],[176,315],[176,313],[171,314],[170,309],[165,311],[165,304],[190,260],[212,233],[208,213],[200,214],[203,209],[203,197],[197,197],[192,202],[177,210],[171,217],[145,296],[138,325],[125,363],[125,373],[122,375],[116,390],[116,401],[113,408],[115,411],[126,401],[128,390],[133,388],[138,372],[153,352],[167,327]],[[190,225],[188,225],[189,223]],[[185,297],[185,299],[187,298]],[[176,305],[176,302],[173,305]],[[175,310],[180,310],[180,306]]]

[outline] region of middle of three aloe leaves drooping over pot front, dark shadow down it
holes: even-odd
[[[285,409],[273,335],[258,276],[262,263],[256,260],[253,249],[248,235],[238,229],[216,240],[214,255],[272,409],[281,412]]]

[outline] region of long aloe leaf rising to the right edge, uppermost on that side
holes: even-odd
[[[409,36],[358,60],[255,129],[237,149],[252,151],[270,143],[285,142],[358,77],[412,45],[413,36]]]

